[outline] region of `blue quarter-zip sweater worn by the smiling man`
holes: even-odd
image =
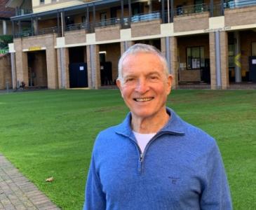
[[[215,140],[174,111],[142,154],[130,127],[100,132],[95,141],[83,209],[232,209]]]

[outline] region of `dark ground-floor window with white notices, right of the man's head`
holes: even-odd
[[[204,48],[187,48],[187,69],[200,69],[205,66]]]

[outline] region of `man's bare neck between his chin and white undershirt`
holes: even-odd
[[[148,118],[138,118],[132,113],[131,127],[133,131],[141,134],[156,133],[166,125],[170,116],[168,113],[162,113],[161,116],[154,116]]]

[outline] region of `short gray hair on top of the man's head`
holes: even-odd
[[[138,52],[147,52],[147,53],[157,55],[163,64],[163,71],[166,73],[166,77],[168,77],[169,72],[168,72],[168,64],[166,61],[166,57],[164,57],[162,55],[162,53],[152,45],[137,43],[135,45],[132,45],[130,48],[128,48],[128,50],[126,50],[126,52],[124,52],[123,55],[120,57],[120,59],[119,59],[119,76],[117,78],[118,80],[120,80],[123,83],[123,73],[122,73],[123,60],[126,59],[126,57],[128,55],[135,55]]]

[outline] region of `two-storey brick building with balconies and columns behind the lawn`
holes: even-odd
[[[22,81],[50,89],[112,85],[119,57],[134,43],[166,55],[173,88],[256,82],[255,1],[21,2],[8,2],[17,14],[11,18],[14,87]]]

